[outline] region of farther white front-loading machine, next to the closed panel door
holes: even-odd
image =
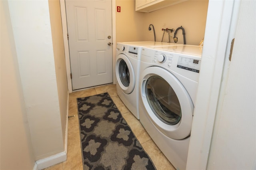
[[[121,42],[116,45],[116,89],[118,96],[139,119],[139,69],[140,53],[143,46],[172,45],[163,42]],[[173,44],[176,45],[176,44]]]

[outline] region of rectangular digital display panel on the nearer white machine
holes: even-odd
[[[179,57],[177,67],[199,73],[200,61],[192,58]]]

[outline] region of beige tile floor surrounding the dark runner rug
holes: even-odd
[[[82,153],[80,145],[80,131],[78,123],[78,111],[76,106],[76,98],[87,97],[91,95],[96,95],[100,93],[108,92],[122,116],[132,129],[136,138],[139,140],[140,144],[144,150],[150,156],[152,162],[154,163],[157,170],[175,170],[172,164],[167,160],[167,158],[162,154],[153,140],[150,138],[144,127],[142,127],[140,121],[130,113],[126,108],[124,103],[120,100],[116,93],[116,85],[106,85],[101,87],[95,87],[92,89],[86,89],[83,91],[77,91],[70,93],[69,95],[69,116],[75,115],[75,117],[70,117],[68,120],[68,153],[67,160],[61,162],[54,166],[45,168],[44,170],[82,170]]]

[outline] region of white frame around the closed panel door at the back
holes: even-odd
[[[112,1],[112,63],[113,63],[113,83],[116,84],[116,73],[115,73],[115,56],[116,56],[116,0]],[[69,46],[68,46],[68,26],[66,18],[66,6],[65,0],[60,0],[60,12],[62,20],[62,32],[64,40],[64,52],[65,52],[65,61],[66,61],[66,73],[68,80],[68,92],[72,93],[72,79],[70,77],[71,68],[70,68],[70,55],[69,55]],[[78,91],[78,90],[74,90]]]

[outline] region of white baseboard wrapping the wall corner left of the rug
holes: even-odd
[[[67,101],[67,115],[66,115],[66,136],[65,136],[65,150],[64,152],[60,152],[56,155],[49,156],[48,158],[44,158],[41,160],[37,160],[34,164],[33,170],[42,170],[49,166],[58,164],[60,162],[64,162],[67,160],[67,152],[68,152],[68,104],[69,104],[69,93],[68,93],[68,101]]]

